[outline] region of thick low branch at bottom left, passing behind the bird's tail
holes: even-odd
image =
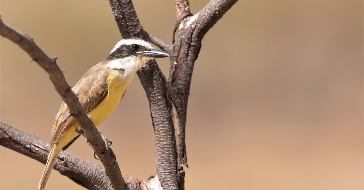
[[[0,145],[43,164],[47,162],[50,151],[48,143],[2,122],[0,122]],[[58,155],[58,161],[54,169],[87,189],[109,190],[111,188],[110,179],[107,177],[104,167],[76,157],[66,151],[61,151]],[[130,187],[135,186],[137,183],[149,183],[148,181],[139,182],[138,179],[128,176],[124,176],[124,180]]]

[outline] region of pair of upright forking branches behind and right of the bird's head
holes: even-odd
[[[138,72],[149,100],[155,132],[157,174],[165,189],[184,189],[187,101],[202,38],[236,1],[212,0],[197,15],[191,16],[189,1],[175,0],[176,29],[179,30],[172,49],[169,49],[168,44],[143,31],[131,0],[109,0],[123,37],[142,37],[171,55],[168,81],[155,61]]]

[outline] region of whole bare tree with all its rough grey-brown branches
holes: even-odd
[[[169,45],[143,30],[131,0],[109,0],[122,37],[140,37],[170,54],[168,79],[162,74],[155,60],[148,62],[137,72],[149,100],[155,133],[157,174],[147,181],[139,181],[132,177],[124,177],[126,182],[123,180],[114,153],[104,145],[99,132],[70,90],[55,58],[47,57],[29,36],[21,34],[0,20],[1,36],[19,45],[50,74],[50,80],[55,89],[70,106],[72,115],[83,128],[95,153],[99,158],[104,158],[101,160],[103,168],[62,152],[54,169],[88,189],[111,189],[111,186],[114,189],[128,187],[146,190],[185,189],[183,165],[188,167],[185,142],[186,114],[194,63],[201,49],[203,36],[236,2],[237,0],[211,0],[201,11],[193,15],[190,12],[188,0],[175,0],[177,18],[173,44]],[[0,126],[1,145],[42,163],[46,162],[46,154],[49,150],[47,143],[5,124]],[[76,169],[72,169],[74,167]],[[88,173],[90,170],[97,176]],[[108,178],[105,177],[105,172]]]

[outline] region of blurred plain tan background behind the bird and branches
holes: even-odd
[[[146,31],[171,43],[174,1],[133,2]],[[191,11],[207,2],[191,0]],[[71,85],[120,40],[106,0],[0,6],[4,22],[58,56]],[[0,42],[0,121],[49,142],[62,100],[27,54]],[[158,64],[168,72],[168,59]],[[188,107],[186,189],[362,190],[363,1],[238,1],[202,41]],[[137,76],[99,130],[123,174],[155,174]],[[85,142],[68,151],[100,164]],[[0,147],[0,189],[35,189],[43,167]],[[83,189],[57,171],[47,187]]]

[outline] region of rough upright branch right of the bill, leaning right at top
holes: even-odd
[[[186,114],[194,63],[201,49],[203,36],[236,2],[237,0],[211,0],[201,11],[191,16],[189,1],[175,0],[177,12],[175,28],[178,28],[178,35],[173,43],[169,82],[176,88],[179,96],[178,101],[172,99],[171,114],[178,137],[176,143],[180,189],[184,189],[183,165],[188,166],[185,142]]]

